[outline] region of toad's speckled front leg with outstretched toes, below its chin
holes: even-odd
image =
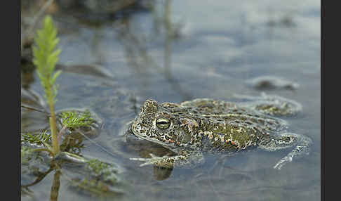
[[[140,167],[154,164],[157,167],[165,167],[165,168],[173,168],[173,167],[182,167],[182,168],[193,168],[198,164],[202,164],[204,162],[203,155],[200,151],[188,151],[181,150],[178,155],[175,156],[162,156],[158,157],[150,153],[150,158],[130,158],[130,160],[139,160],[144,163],[140,164]]]

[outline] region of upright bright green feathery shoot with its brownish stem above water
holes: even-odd
[[[38,34],[34,37],[36,46],[33,47],[33,63],[36,65],[41,85],[44,86],[45,98],[51,111],[50,127],[52,134],[53,154],[60,153],[60,142],[58,141],[57,122],[55,117],[54,103],[57,101],[57,89],[55,79],[60,75],[60,70],[55,72],[55,65],[58,62],[60,49],[56,49],[59,39],[57,37],[57,29],[53,25],[51,16],[47,15],[44,19],[44,27],[38,30]]]

